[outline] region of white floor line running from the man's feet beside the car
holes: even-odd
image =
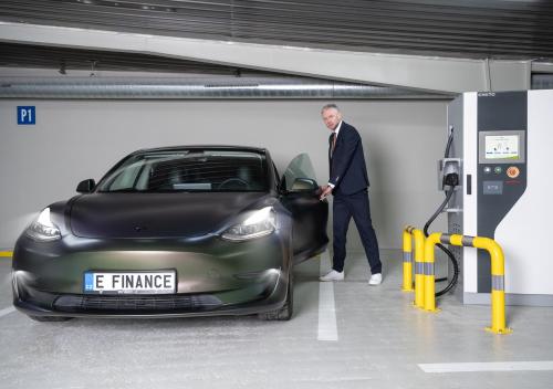
[[[325,274],[330,269],[331,259],[328,252],[325,251],[321,254],[321,274]],[[333,282],[319,283],[319,332],[316,338],[317,340],[331,341],[338,339]]]

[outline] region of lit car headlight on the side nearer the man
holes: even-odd
[[[243,222],[232,225],[223,232],[221,238],[229,241],[247,241],[273,233],[275,225],[276,222],[273,209],[271,207],[265,207],[254,211]]]

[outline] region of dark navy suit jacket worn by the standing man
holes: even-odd
[[[368,187],[367,168],[363,154],[363,143],[355,127],[342,122],[336,146],[331,156],[333,134],[328,138],[330,183],[333,193],[353,195]]]

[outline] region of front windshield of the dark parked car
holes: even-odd
[[[265,156],[241,150],[152,151],[124,160],[100,192],[267,191]]]

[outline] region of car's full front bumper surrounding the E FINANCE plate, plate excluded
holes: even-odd
[[[29,315],[152,317],[240,315],[280,308],[291,259],[271,235],[251,242],[38,243],[22,238],[13,255],[13,304]],[[90,271],[174,270],[174,294],[90,294]]]

